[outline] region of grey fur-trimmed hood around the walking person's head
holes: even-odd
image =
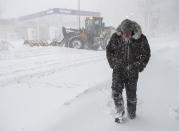
[[[135,21],[132,21],[132,20],[129,20],[129,19],[125,19],[121,22],[121,24],[117,27],[116,29],[116,33],[117,35],[121,36],[122,35],[122,32],[123,32],[123,28],[126,28],[126,23],[127,25],[130,25],[129,28],[131,28],[132,30],[132,38],[133,39],[139,39],[142,35],[142,29],[140,27],[140,25],[135,22]]]

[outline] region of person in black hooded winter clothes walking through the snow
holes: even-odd
[[[139,72],[146,67],[150,58],[150,46],[138,23],[125,19],[112,35],[106,56],[112,75],[112,97],[119,117],[125,114],[122,92],[127,96],[127,112],[130,119],[136,117],[137,81]]]

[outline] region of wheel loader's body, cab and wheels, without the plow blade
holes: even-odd
[[[87,17],[85,28],[71,29],[62,28],[64,39],[58,42],[59,45],[76,49],[93,49],[99,47],[106,48],[113,27],[105,27],[102,17]]]

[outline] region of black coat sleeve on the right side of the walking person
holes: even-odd
[[[147,66],[151,56],[150,46],[147,38],[144,36],[140,46],[140,55],[138,56],[138,61],[135,63],[139,72],[142,72]]]

